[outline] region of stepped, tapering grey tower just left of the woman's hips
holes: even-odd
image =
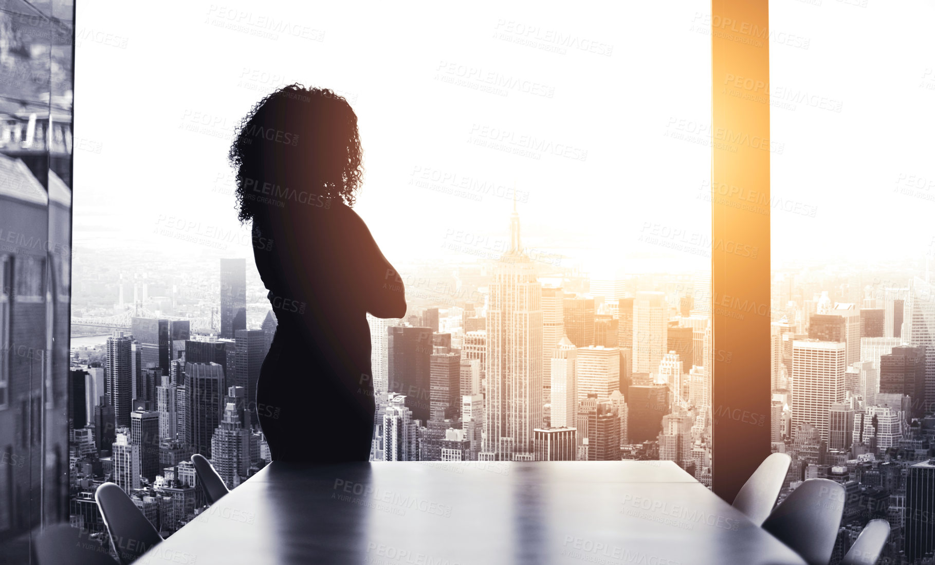
[[[227,389],[223,419],[211,437],[211,464],[228,488],[246,480],[250,471],[250,430],[244,427],[245,398],[245,391],[239,386]]]

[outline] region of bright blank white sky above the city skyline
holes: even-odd
[[[884,254],[897,237],[905,253],[925,253],[935,202],[892,189],[904,174],[927,179],[919,190],[935,196],[935,8],[813,1],[773,3],[772,91],[841,101],[841,112],[773,109],[772,138],[784,143],[773,196],[815,210],[773,215],[773,256]],[[99,148],[75,155],[78,253],[224,245],[220,254],[249,255],[230,195],[232,127],[264,94],[299,81],[345,94],[356,111],[367,168],[356,208],[397,264],[507,238],[502,189],[514,183],[525,245],[571,255],[563,265],[710,264],[711,152],[703,138],[672,137],[710,123],[710,2],[137,10],[78,7],[76,147]],[[793,45],[803,37],[808,49]],[[552,151],[509,152],[527,139]],[[501,196],[438,190],[471,180]],[[688,243],[673,251],[646,241],[653,232]]]

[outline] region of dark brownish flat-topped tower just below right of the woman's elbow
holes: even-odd
[[[431,408],[433,332],[411,326],[391,326],[387,331],[389,392],[404,396],[412,418],[424,423]]]

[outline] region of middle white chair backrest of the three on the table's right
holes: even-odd
[[[785,543],[809,565],[827,565],[844,514],[844,487],[809,479],[780,502],[763,529]]]

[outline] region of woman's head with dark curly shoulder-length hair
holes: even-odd
[[[357,116],[347,100],[299,84],[253,107],[228,157],[236,168],[241,222],[323,197],[352,206],[364,172]]]

